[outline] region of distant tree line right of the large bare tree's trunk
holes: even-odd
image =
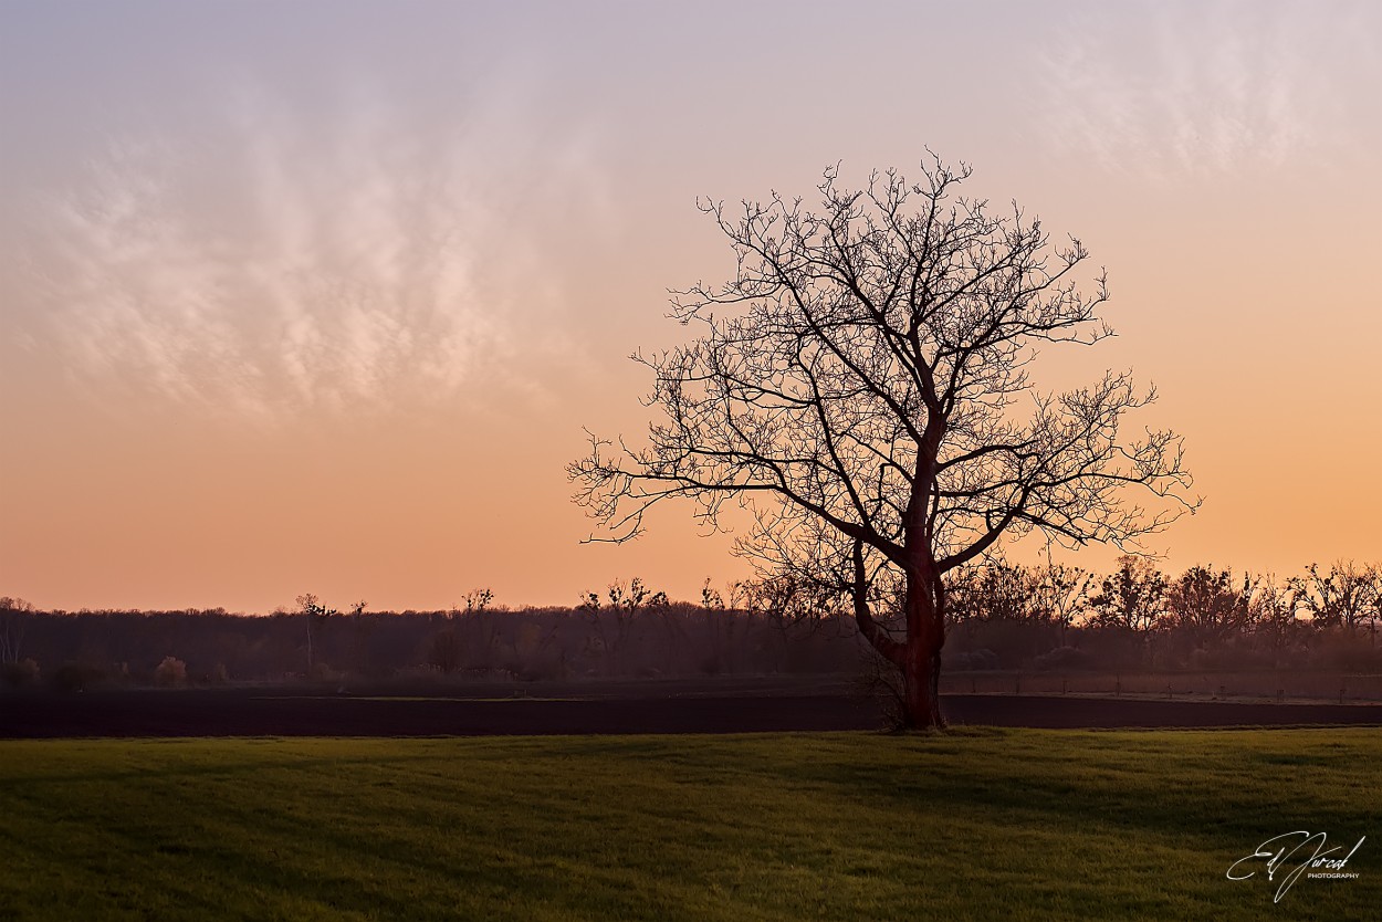
[[[1303,574],[1125,556],[1111,574],[988,561],[956,575],[951,669],[1382,670],[1382,567]]]

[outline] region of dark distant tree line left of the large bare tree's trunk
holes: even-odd
[[[574,607],[510,610],[478,589],[439,611],[346,611],[304,593],[290,611],[39,611],[0,599],[4,684],[177,686],[355,679],[586,679],[832,673],[857,648],[835,619],[788,621],[746,592],[672,601],[640,579]],[[735,596],[738,599],[738,596]]]

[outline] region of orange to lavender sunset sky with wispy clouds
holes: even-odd
[[[582,543],[565,478],[732,272],[698,196],[927,149],[1107,267],[1034,377],[1155,383],[1168,570],[1382,560],[1378,87],[1367,1],[0,0],[0,593],[699,599],[732,536]]]

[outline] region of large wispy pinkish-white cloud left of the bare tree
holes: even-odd
[[[35,211],[25,336],[91,391],[260,420],[531,390],[571,348],[540,223],[608,217],[579,133],[513,94],[449,124],[337,104],[242,91],[200,134],[112,141]]]

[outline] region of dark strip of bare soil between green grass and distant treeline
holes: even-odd
[[[951,694],[952,724],[1009,727],[1382,726],[1382,705]],[[98,690],[0,695],[0,738],[415,737],[873,730],[876,701],[810,680],[464,688]]]

